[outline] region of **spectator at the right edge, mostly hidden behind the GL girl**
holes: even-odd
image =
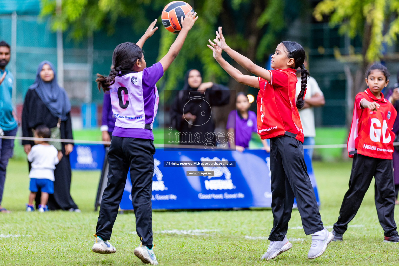
[[[387,95],[385,99],[388,99],[393,107],[395,107],[396,111],[399,113],[399,72],[398,72],[398,83],[395,83],[393,85],[393,88],[389,89],[387,91]],[[397,116],[395,119],[395,122],[393,123],[393,133],[395,133],[395,141],[399,141],[399,117]],[[392,154],[392,160],[393,160],[393,169],[396,171],[393,171],[393,178],[395,182],[395,197],[396,201],[395,204],[399,204],[398,201],[398,192],[399,192],[399,147],[398,146],[393,146],[393,154]]]

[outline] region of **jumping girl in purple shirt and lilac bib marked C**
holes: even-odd
[[[121,43],[113,53],[113,69],[107,77],[97,74],[99,89],[111,94],[113,114],[116,118],[108,153],[108,183],[101,199],[93,252],[115,253],[108,240],[119,203],[122,199],[126,176],[130,167],[132,203],[136,216],[136,232],[140,245],[134,255],[144,263],[158,265],[152,245],[152,176],[154,174],[155,147],[152,123],[158,110],[156,83],[178,55],[188,31],[198,19],[196,13],[186,14],[182,30],[168,53],[156,64],[146,67],[141,47],[158,27],[156,20],[137,43]]]

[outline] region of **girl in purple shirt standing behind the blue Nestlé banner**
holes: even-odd
[[[252,132],[258,132],[256,114],[248,110],[250,106],[248,96],[243,92],[238,93],[235,98],[236,110],[229,113],[226,123],[227,131],[234,134],[233,142],[230,143],[232,150],[243,152],[249,146]],[[266,140],[261,140],[261,142],[263,148],[269,152],[270,147]]]

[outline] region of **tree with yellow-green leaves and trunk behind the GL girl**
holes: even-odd
[[[364,73],[368,65],[383,57],[384,43],[392,45],[399,33],[399,0],[323,0],[314,8],[314,17],[322,21],[329,16],[331,26],[340,26],[340,33],[362,38],[361,54],[338,59],[345,63],[347,79],[348,128],[352,120],[352,103],[356,93],[365,89]],[[338,51],[338,49],[337,49]],[[356,71],[353,71],[356,69]]]

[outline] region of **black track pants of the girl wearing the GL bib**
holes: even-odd
[[[375,179],[374,201],[379,224],[384,229],[385,236],[397,234],[396,223],[393,219],[395,186],[392,160],[372,158],[361,154],[354,154],[353,157],[349,189],[342,201],[338,221],[333,227],[337,233],[343,234],[348,229],[348,223],[358,212],[373,176]]]

